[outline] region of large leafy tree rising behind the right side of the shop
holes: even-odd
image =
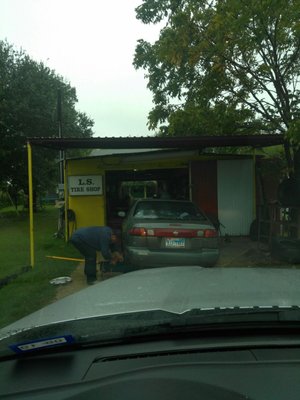
[[[195,117],[195,134],[213,134],[225,115],[222,133],[299,137],[298,0],[144,0],[136,13],[163,24],[134,57],[153,92],[150,128],[182,134]]]

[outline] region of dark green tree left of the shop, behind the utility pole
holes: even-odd
[[[27,189],[29,137],[58,135],[57,97],[62,93],[63,136],[90,137],[93,121],[75,109],[76,90],[55,71],[0,41],[0,185]],[[57,183],[58,152],[33,152],[34,191]]]

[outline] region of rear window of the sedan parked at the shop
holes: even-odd
[[[204,214],[188,202],[142,201],[136,205],[133,215],[144,219],[206,220]]]

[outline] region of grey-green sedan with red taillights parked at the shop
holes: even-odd
[[[133,267],[213,266],[219,234],[191,201],[137,200],[122,225],[125,262]]]

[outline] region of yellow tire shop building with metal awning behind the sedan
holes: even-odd
[[[222,235],[240,236],[249,235],[257,214],[259,149],[283,143],[282,135],[31,138],[28,161],[34,174],[32,146],[65,153],[66,240],[75,227],[120,229],[120,211],[126,212],[135,198],[159,196],[162,188],[169,198],[194,201],[219,224]],[[226,152],[228,147],[246,148],[248,154]],[[93,152],[68,158],[75,148]]]

